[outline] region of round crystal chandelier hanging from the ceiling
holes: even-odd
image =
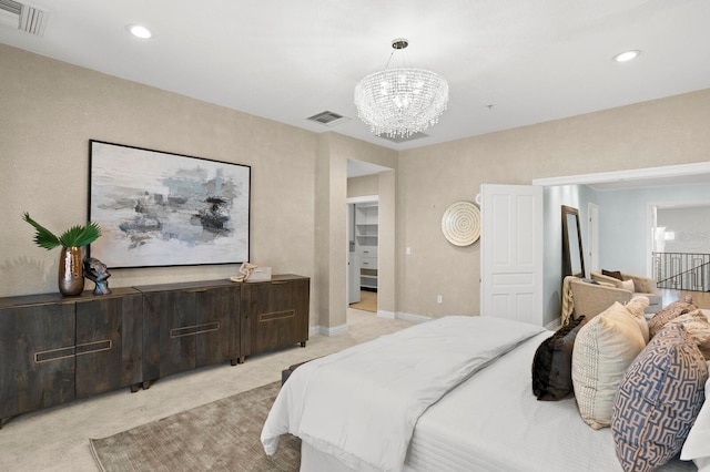
[[[408,44],[406,39],[396,39],[392,48],[397,51]],[[446,80],[424,69],[385,68],[355,85],[357,115],[377,135],[409,137],[425,131],[439,121],[447,103]]]

